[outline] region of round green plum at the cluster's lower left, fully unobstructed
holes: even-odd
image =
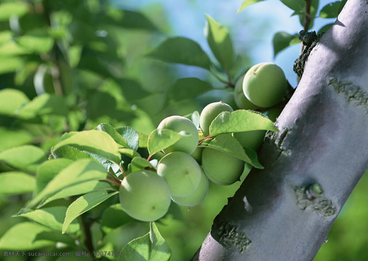
[[[132,218],[151,222],[164,216],[170,206],[170,189],[157,173],[138,170],[121,181],[120,204]]]

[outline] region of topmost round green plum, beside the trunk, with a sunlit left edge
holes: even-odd
[[[243,92],[256,106],[272,107],[282,100],[286,91],[285,74],[274,63],[256,64],[244,76]]]

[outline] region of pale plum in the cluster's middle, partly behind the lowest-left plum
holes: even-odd
[[[171,152],[160,159],[157,174],[169,185],[174,197],[189,196],[201,181],[201,168],[197,161],[181,151]]]

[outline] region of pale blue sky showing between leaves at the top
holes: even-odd
[[[273,58],[272,37],[278,31],[290,34],[298,33],[302,26],[298,16],[290,17],[293,13],[279,0],[261,1],[244,8],[239,14],[237,10],[242,0],[130,0],[115,1],[119,6],[132,10],[141,10],[148,4],[160,3],[168,15],[172,35],[179,35],[197,41],[206,53],[210,49],[206,42],[203,28],[205,14],[209,14],[215,21],[227,27],[230,32],[236,53],[242,54],[247,50],[252,64],[273,62],[285,72],[286,78],[293,87],[296,86],[296,74],[293,72],[294,60],[300,53],[300,45],[294,45]],[[319,1],[319,9],[330,3]],[[149,16],[149,14],[147,14]],[[317,18],[313,30],[318,31],[323,25],[334,22],[335,18]],[[194,68],[184,68],[186,74],[200,74]]]

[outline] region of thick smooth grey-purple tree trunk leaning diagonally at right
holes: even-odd
[[[315,257],[368,168],[367,0],[347,1],[276,126],[259,155],[265,169],[252,169],[192,260]]]

